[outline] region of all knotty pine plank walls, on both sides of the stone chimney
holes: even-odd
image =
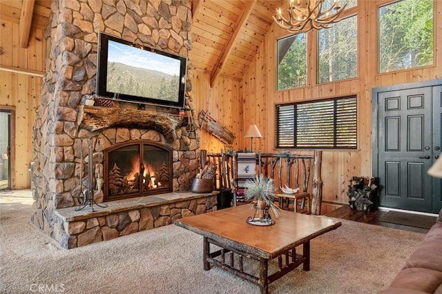
[[[305,101],[358,95],[358,146],[359,150],[325,151],[323,153],[323,197],[325,201],[346,203],[347,182],[352,175],[372,173],[372,110],[371,91],[379,86],[425,81],[442,77],[442,1],[435,1],[434,36],[435,66],[415,70],[403,70],[386,74],[376,73],[376,15],[382,1],[358,1],[358,7],[349,13],[358,14],[359,31],[359,70],[358,78],[336,83],[316,85],[316,33],[309,33],[309,75],[310,83],[305,88],[276,92],[275,81],[276,39],[285,32],[273,25],[258,48],[256,58],[247,69],[242,81],[219,77],[213,88],[209,86],[209,72],[193,70],[192,97],[195,112],[209,110],[211,117],[237,135],[231,148],[249,148],[250,139],[242,138],[249,124],[257,124],[262,135],[254,139],[254,149],[263,152],[277,152],[274,148],[274,106],[289,101]],[[18,23],[1,19],[0,42],[3,54],[0,55],[0,107],[15,108],[17,128],[17,159],[15,160],[14,186],[28,188],[28,164],[32,159],[32,124],[35,108],[39,105],[42,78],[46,59],[46,41],[42,28],[31,28],[28,48],[19,48]],[[19,69],[34,75],[25,75],[8,70]],[[206,132],[201,132],[201,147],[209,152],[220,152],[224,144]],[[25,142],[26,141],[26,142]],[[302,150],[301,150],[302,151]]]

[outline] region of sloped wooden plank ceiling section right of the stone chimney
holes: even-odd
[[[211,73],[211,85],[219,75],[242,79],[281,3],[194,0],[192,65]]]

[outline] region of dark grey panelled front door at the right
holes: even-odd
[[[373,174],[381,206],[441,209],[441,180],[427,175],[441,153],[440,92],[431,83],[374,89]]]

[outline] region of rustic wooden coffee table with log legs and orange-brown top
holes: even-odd
[[[251,204],[177,219],[175,224],[204,237],[203,264],[209,271],[211,264],[258,284],[261,293],[268,293],[269,284],[302,264],[310,269],[310,240],[338,228],[341,223],[327,217],[304,215],[280,210],[271,226],[247,223],[255,209]],[[211,252],[210,244],[221,249]],[[296,247],[302,245],[302,255]],[[234,259],[234,255],[238,255]],[[260,263],[259,276],[246,273],[242,258]],[[279,271],[268,275],[269,260],[278,257]],[[233,262],[236,260],[237,262]]]

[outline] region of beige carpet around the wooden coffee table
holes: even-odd
[[[65,250],[32,226],[30,215],[29,205],[0,201],[0,293],[35,293],[37,287],[46,293],[259,293],[258,286],[219,268],[204,271],[202,237],[184,228],[170,225]],[[270,284],[270,292],[376,293],[424,237],[342,222],[311,241],[310,271],[296,269]]]

